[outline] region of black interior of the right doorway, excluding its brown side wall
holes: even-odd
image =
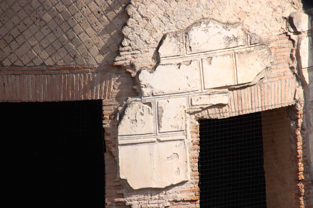
[[[261,114],[200,120],[200,207],[266,207]]]

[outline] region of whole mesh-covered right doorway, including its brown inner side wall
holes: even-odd
[[[292,207],[292,112],[199,121],[200,207]]]

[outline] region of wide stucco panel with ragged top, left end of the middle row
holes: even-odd
[[[199,89],[196,60],[181,64],[159,65],[154,72],[139,74],[143,96],[191,92]]]

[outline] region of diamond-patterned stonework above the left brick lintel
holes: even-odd
[[[0,66],[113,63],[129,0],[0,0]]]

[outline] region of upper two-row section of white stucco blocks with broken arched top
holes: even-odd
[[[190,36],[193,43],[187,41]],[[250,37],[260,40],[255,35],[248,36],[240,24],[225,25],[213,20],[202,20],[184,33],[167,34],[158,49],[160,64],[154,71],[139,72],[142,96],[251,83],[270,66],[273,56],[260,41],[251,44]],[[177,47],[181,53],[177,53]]]

